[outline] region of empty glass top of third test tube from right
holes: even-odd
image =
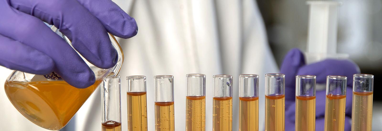
[[[316,76],[297,75],[296,76],[296,96],[312,97],[316,96]]]

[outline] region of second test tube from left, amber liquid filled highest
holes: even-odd
[[[129,76],[126,80],[128,131],[147,131],[146,77]]]

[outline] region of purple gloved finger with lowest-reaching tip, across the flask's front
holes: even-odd
[[[92,70],[60,36],[42,21],[0,1],[0,34],[34,48],[53,59],[55,68],[66,82],[78,88],[91,86],[95,81]]]

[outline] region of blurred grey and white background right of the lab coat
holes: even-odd
[[[338,0],[337,53],[347,53],[361,73],[375,75],[382,92],[382,0]],[[306,51],[309,6],[303,0],[257,0],[278,66],[292,48]],[[374,95],[373,131],[382,131],[382,97]]]

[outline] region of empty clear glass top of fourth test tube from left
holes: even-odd
[[[186,75],[186,96],[201,97],[206,96],[206,75],[187,74]]]

